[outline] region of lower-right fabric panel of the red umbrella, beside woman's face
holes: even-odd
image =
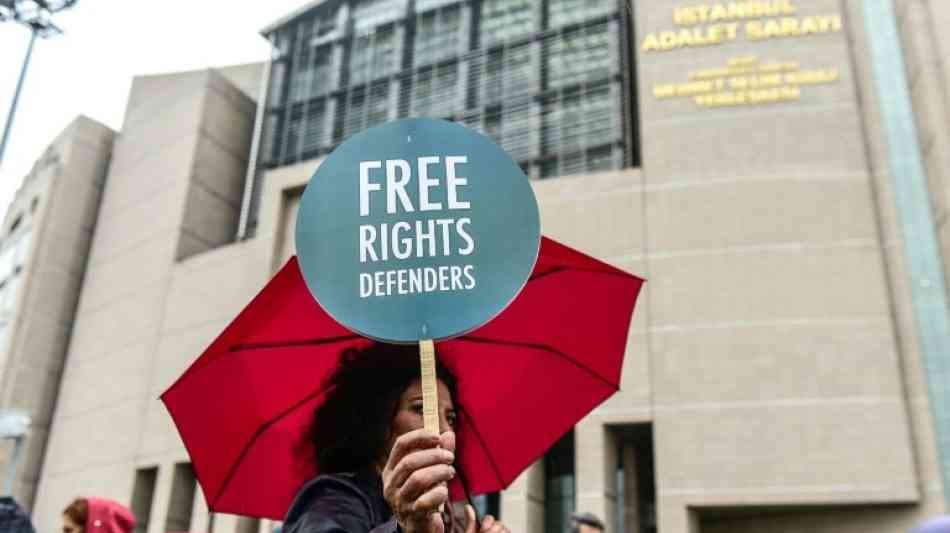
[[[439,349],[444,364],[460,376],[459,461],[464,472],[481,473],[469,475],[474,494],[506,487],[537,460],[539,450],[616,390],[547,349],[464,338]]]

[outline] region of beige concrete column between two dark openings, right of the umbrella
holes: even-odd
[[[598,421],[574,428],[577,512],[594,513],[614,533],[617,527],[617,439]]]

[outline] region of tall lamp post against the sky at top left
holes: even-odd
[[[16,115],[17,103],[20,101],[20,91],[23,89],[23,79],[26,69],[30,65],[30,56],[33,54],[33,44],[37,37],[53,37],[63,33],[53,24],[53,14],[72,7],[79,0],[0,0],[0,22],[13,21],[30,30],[30,44],[26,49],[26,57],[20,68],[20,78],[17,80],[16,91],[13,93],[13,102],[10,112],[7,113],[7,123],[3,127],[3,138],[0,138],[0,165],[3,164],[3,153],[7,148],[10,130],[13,128],[13,117]]]

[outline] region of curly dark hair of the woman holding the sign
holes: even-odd
[[[373,342],[347,348],[327,378],[326,399],[313,412],[309,438],[320,473],[356,472],[384,460],[403,392],[419,379],[419,347]],[[436,375],[456,408],[457,385],[440,362]]]

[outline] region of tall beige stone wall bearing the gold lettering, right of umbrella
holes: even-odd
[[[921,499],[929,454],[899,371],[912,330],[895,321],[856,4],[794,2],[796,16],[838,14],[840,32],[640,54],[662,531],[698,528],[692,509]],[[673,26],[677,5],[638,4],[637,33]],[[746,55],[840,78],[756,106],[651,94]]]

